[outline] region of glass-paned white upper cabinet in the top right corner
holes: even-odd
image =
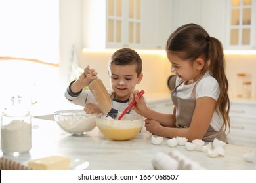
[[[256,1],[228,0],[226,39],[229,50],[256,49]]]

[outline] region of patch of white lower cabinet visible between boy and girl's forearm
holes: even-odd
[[[163,101],[148,102],[148,108],[164,114],[173,114],[173,107],[171,98]]]

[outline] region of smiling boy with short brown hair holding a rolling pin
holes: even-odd
[[[114,52],[110,58],[108,73],[110,75],[111,90],[108,90],[112,99],[112,110],[110,113],[123,112],[129,105],[129,99],[135,86],[142,80],[142,60],[130,48],[122,48]],[[68,101],[85,106],[84,110],[87,114],[100,114],[102,111],[98,107],[93,94],[90,90],[83,90],[92,80],[97,77],[95,69],[90,69],[89,66],[85,69],[87,74],[83,73],[78,80],[70,83],[65,97]],[[133,97],[133,95],[132,95]],[[128,111],[127,113],[135,113]]]

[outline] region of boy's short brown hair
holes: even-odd
[[[142,59],[135,50],[131,48],[121,48],[114,52],[110,58],[109,69],[114,65],[136,65],[136,73],[139,76],[142,72]]]

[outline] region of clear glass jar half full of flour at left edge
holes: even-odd
[[[1,116],[1,150],[3,154],[24,154],[32,147],[30,110],[22,105],[22,97],[11,98],[12,106]]]

